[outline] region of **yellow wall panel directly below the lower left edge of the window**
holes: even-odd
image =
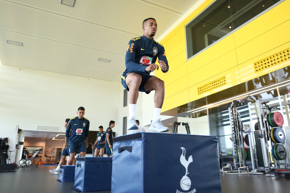
[[[188,64],[188,73],[195,71],[196,69],[214,61],[220,56],[232,51],[235,49],[233,35],[229,35],[222,39],[221,41],[217,42],[216,44],[212,45],[211,47],[207,48],[205,51],[201,52],[197,56],[190,59]]]

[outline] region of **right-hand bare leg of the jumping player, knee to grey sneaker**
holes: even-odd
[[[157,131],[157,132],[168,132],[169,128],[164,127],[162,122],[160,121],[160,112],[164,102],[164,95],[165,95],[165,86],[164,81],[157,78],[156,76],[151,77],[149,80],[146,81],[144,84],[144,89],[146,92],[150,92],[155,90],[154,94],[154,112],[151,125],[149,130]]]

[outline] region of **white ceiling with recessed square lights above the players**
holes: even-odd
[[[156,19],[158,40],[197,2],[75,0],[71,7],[60,0],[0,0],[1,64],[118,82],[143,20]]]

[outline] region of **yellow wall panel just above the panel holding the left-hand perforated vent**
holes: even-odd
[[[237,66],[235,50],[219,57],[218,59],[206,64],[199,69],[188,74],[189,86],[193,86],[207,80],[210,77],[220,74],[228,69]],[[210,82],[210,81],[209,81]]]

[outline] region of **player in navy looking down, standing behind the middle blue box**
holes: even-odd
[[[65,145],[67,146],[67,140],[69,132],[70,135],[70,157],[67,161],[68,165],[72,165],[72,157],[75,157],[76,150],[78,148],[78,152],[81,157],[85,157],[86,148],[88,147],[88,137],[89,137],[89,127],[90,121],[86,119],[84,116],[85,108],[79,107],[78,116],[71,118],[68,122],[67,129],[65,132]]]

